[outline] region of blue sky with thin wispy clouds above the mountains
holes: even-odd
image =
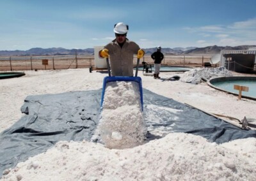
[[[141,48],[256,45],[255,0],[1,0],[0,50],[93,48],[117,22]]]

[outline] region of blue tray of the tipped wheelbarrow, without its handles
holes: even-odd
[[[140,101],[141,101],[141,110],[143,111],[143,92],[142,92],[142,82],[140,76],[105,76],[103,81],[103,87],[102,87],[102,94],[101,94],[101,103],[100,106],[102,108],[102,104],[104,101],[104,94],[106,85],[108,82],[116,82],[116,81],[126,81],[126,82],[138,82],[140,87]]]

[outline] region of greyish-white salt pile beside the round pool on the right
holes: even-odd
[[[228,71],[224,67],[220,68],[196,68],[186,71],[182,78],[180,78],[181,82],[189,82],[189,83],[198,83],[202,82],[202,80],[209,80],[210,78],[215,78],[218,76],[232,76],[232,73]]]

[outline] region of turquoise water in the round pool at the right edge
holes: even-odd
[[[238,94],[239,91],[234,89],[234,85],[241,85],[249,87],[248,92],[242,92],[242,95],[256,98],[256,80],[226,80],[221,82],[212,83],[215,87],[218,87],[224,91]]]

